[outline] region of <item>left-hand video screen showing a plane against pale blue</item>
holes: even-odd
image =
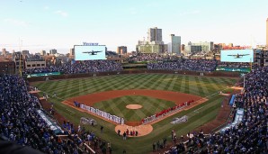
[[[75,60],[106,59],[104,45],[75,45]]]

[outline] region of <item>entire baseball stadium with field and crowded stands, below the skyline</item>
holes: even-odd
[[[228,68],[224,61],[158,54],[127,61],[73,60],[2,76],[1,98],[12,103],[1,109],[1,132],[45,153],[264,151],[267,68],[233,62],[252,71],[228,72],[217,70]]]

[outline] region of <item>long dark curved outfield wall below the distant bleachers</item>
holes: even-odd
[[[186,71],[186,70],[122,70],[122,71],[112,71],[112,72],[93,72],[87,74],[66,74],[58,76],[49,76],[49,80],[54,79],[67,79],[67,78],[79,78],[79,77],[98,77],[98,76],[110,76],[119,74],[146,74],[146,73],[159,73],[159,74],[180,74],[180,75],[192,75],[201,76],[201,73],[205,77],[240,77],[239,72],[196,72],[196,71]],[[45,81],[47,77],[28,77],[25,78],[29,82],[35,81]]]

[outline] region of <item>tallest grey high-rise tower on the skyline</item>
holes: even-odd
[[[150,29],[148,29],[147,33],[148,33],[147,41],[155,42],[155,44],[163,44],[162,29],[158,29],[157,27],[150,28]]]

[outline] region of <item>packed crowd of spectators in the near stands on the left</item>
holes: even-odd
[[[38,113],[40,110],[46,112],[40,106],[38,98],[28,93],[26,82],[22,77],[9,75],[0,77],[0,101],[1,143],[4,139],[12,141],[15,143],[14,145],[29,146],[45,153],[78,154],[89,151],[85,147],[85,143],[96,140],[98,143],[93,141],[95,143],[92,145],[100,145],[102,141],[96,138],[93,132],[89,133],[85,129],[80,131],[81,138],[79,138],[74,125],[70,122],[63,123],[61,132],[53,131],[47,120],[43,119]],[[61,138],[58,134],[65,135],[66,138]],[[102,148],[103,146],[106,145],[102,141]],[[96,147],[96,149],[99,147]],[[14,152],[19,149],[21,150],[21,148],[8,150]]]

